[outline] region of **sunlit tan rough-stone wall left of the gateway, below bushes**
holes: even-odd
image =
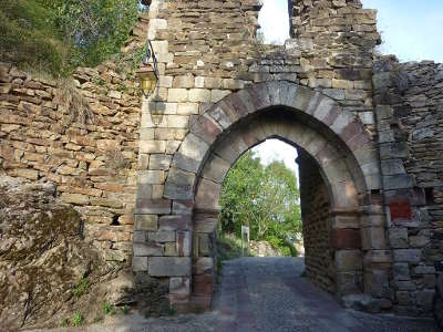
[[[122,54],[72,80],[0,63],[1,172],[55,184],[111,261],[130,262],[132,252],[141,117],[133,62],[147,22],[142,14]]]

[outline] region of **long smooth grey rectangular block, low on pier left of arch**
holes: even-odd
[[[151,277],[190,276],[189,257],[151,257],[147,261]]]

